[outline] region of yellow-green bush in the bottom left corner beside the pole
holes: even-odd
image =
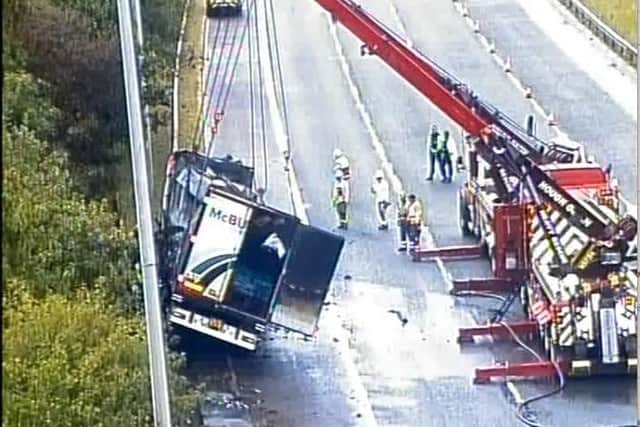
[[[151,396],[144,323],[100,292],[33,298],[25,281],[4,302],[3,425],[147,426]],[[180,361],[172,359],[173,372]],[[196,402],[172,375],[176,418]]]

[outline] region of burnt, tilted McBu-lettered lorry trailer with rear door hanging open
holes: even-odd
[[[344,239],[257,202],[253,170],[177,152],[163,206],[172,326],[255,350],[267,326],[312,336]]]

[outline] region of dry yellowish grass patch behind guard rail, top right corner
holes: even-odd
[[[636,0],[585,0],[596,15],[632,44],[638,40]]]

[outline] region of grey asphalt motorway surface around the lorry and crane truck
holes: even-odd
[[[362,3],[505,113],[517,120],[535,114],[544,123],[540,112],[483,50],[452,2]],[[360,42],[344,29],[335,31],[313,1],[281,0],[277,4],[299,190],[310,222],[332,229],[332,151],[341,148],[350,157],[354,176],[352,220],[350,229],[344,232],[347,243],[315,341],[273,333],[255,355],[198,344],[199,355],[191,365],[194,376],[207,381],[212,393],[229,392],[247,405],[239,405],[240,409],[226,416],[229,425],[233,425],[231,420],[236,425],[278,427],[517,425],[505,387],[473,385],[472,376],[476,366],[489,365],[494,358],[522,360],[524,352],[513,344],[461,349],[455,342],[458,327],[483,322],[487,308],[496,303],[448,296],[443,273],[485,276],[487,263],[439,266],[412,263],[398,255],[396,229],[376,229],[368,191],[374,172],[383,168],[390,178],[398,178],[395,189],[423,198],[429,230],[438,244],[463,242],[455,207],[456,188],[462,177],[456,177],[453,184],[424,181],[424,139],[431,123],[450,128],[454,136],[459,130],[384,63],[361,57]],[[571,105],[560,115],[563,130],[572,137],[576,132],[576,139],[596,141],[596,151],[604,149],[602,135],[606,130],[594,131],[593,126],[585,129],[584,114],[598,117],[603,123],[607,117],[615,122],[610,129],[618,133],[606,145],[603,156],[609,154],[608,161],[617,166],[618,157],[611,153],[618,148],[629,149],[630,141],[635,141],[635,117],[606,104],[612,101],[607,100],[604,90],[585,77],[578,65],[572,65],[550,38],[536,42],[531,35],[535,34],[535,24],[524,18],[516,0],[474,2],[472,12],[492,17],[496,9],[514,13],[509,15],[508,25],[501,25],[495,16],[487,19],[487,30],[494,32],[497,46],[515,51],[520,43],[540,43],[535,49],[545,55],[546,63],[562,64],[557,69],[541,67],[541,60],[534,55],[518,58],[519,66],[526,70],[523,79],[538,85],[536,93],[544,106],[560,111]],[[218,21],[212,21],[209,27],[211,48],[216,25],[220,25]],[[258,66],[257,61],[253,66]],[[214,150],[218,154],[232,152],[251,162],[247,70],[245,52]],[[571,84],[576,85],[571,89],[574,95],[564,95],[549,86],[551,79],[565,78],[567,73]],[[588,95],[589,91],[594,95]],[[578,95],[579,102],[572,101],[571,96]],[[266,200],[292,211],[282,147],[274,138],[278,124],[266,107]],[[256,113],[260,114],[259,109]],[[545,126],[538,128],[541,136],[551,135]],[[264,186],[262,131],[256,132],[255,141],[257,185]],[[600,159],[600,152],[594,154]],[[623,164],[630,167],[631,163]],[[623,178],[622,182],[628,186],[631,181]],[[395,211],[391,213],[395,215]],[[512,316],[518,316],[517,311],[514,309]],[[529,381],[517,387],[526,398],[549,390],[553,384]],[[531,413],[547,426],[630,423],[635,419],[635,385],[626,379],[572,381],[562,394],[534,404]],[[221,419],[218,423],[224,425]]]

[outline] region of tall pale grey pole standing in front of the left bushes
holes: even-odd
[[[138,221],[140,265],[144,286],[144,306],[147,323],[147,343],[149,345],[154,424],[156,427],[171,427],[171,408],[166,372],[162,313],[160,310],[156,270],[157,261],[153,240],[151,201],[149,198],[149,185],[146,173],[147,159],[144,147],[140,87],[133,31],[131,28],[131,5],[129,0],[118,0],[118,22],[120,27],[120,47],[122,49],[125,95],[129,116],[131,164]]]

